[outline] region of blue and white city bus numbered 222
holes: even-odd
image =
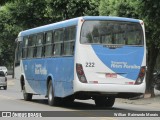
[[[49,105],[92,99],[112,107],[145,92],[142,20],[77,17],[21,31],[16,44],[15,78],[27,101],[44,95]]]

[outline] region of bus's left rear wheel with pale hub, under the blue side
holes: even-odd
[[[52,81],[50,81],[48,84],[48,95],[47,96],[48,96],[49,105],[53,106],[53,105],[59,105],[61,103],[61,99],[54,96]]]

